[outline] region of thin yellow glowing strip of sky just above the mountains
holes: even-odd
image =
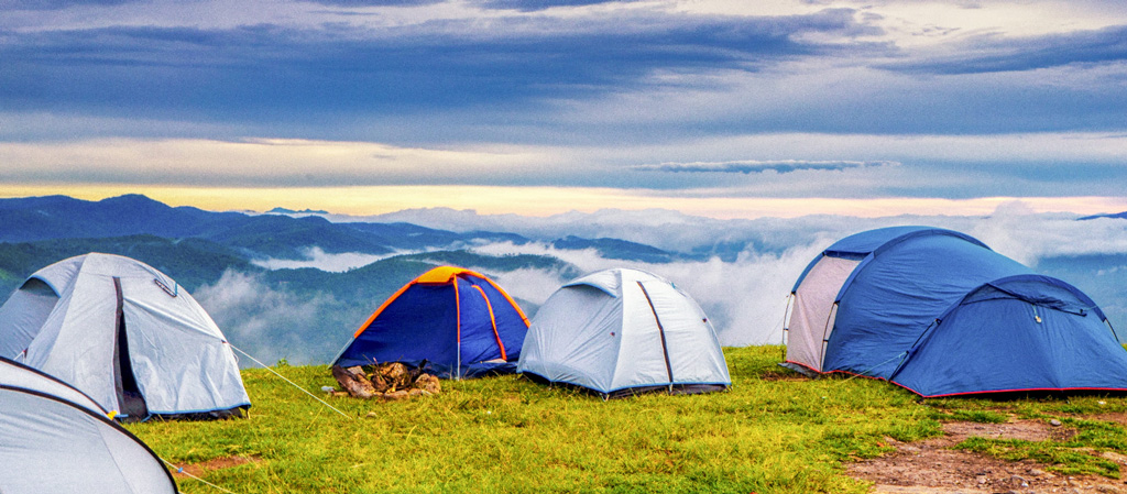
[[[480,214],[515,213],[545,217],[600,209],[666,209],[717,219],[795,218],[842,214],[863,218],[898,214],[982,215],[1004,203],[1020,201],[1033,212],[1066,211],[1097,214],[1127,211],[1127,197],[693,197],[660,191],[618,188],[495,187],[495,186],[364,186],[309,188],[216,188],[123,185],[5,185],[0,197],[69,195],[99,201],[123,194],[144,194],[162,203],[208,211],[325,210],[370,215],[414,208],[476,210]]]

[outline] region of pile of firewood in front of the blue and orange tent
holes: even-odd
[[[442,391],[438,378],[421,369],[410,368],[399,362],[343,368],[332,365],[332,377],[345,391],[334,395],[354,396],[362,399],[403,399],[415,396],[431,396]]]

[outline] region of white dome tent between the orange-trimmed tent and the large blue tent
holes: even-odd
[[[600,271],[552,293],[529,328],[518,371],[603,397],[731,385],[700,306],[668,281],[636,270]]]

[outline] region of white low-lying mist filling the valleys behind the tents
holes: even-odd
[[[1116,328],[1127,328],[1127,220],[1077,221],[1067,213],[1032,213],[1021,203],[1004,204],[988,217],[713,220],[669,211],[647,213],[610,211],[540,219],[434,210],[429,217],[412,212],[409,221],[429,228],[452,229],[451,224],[456,222],[464,231],[517,232],[533,240],[460,248],[487,256],[545,256],[575,266],[569,273],[463,266],[490,275],[514,298],[530,302],[533,306],[526,307],[530,315],[574,272],[631,267],[660,275],[690,293],[712,319],[721,343],[729,346],[782,343],[787,297],[810,259],[844,236],[900,224],[928,224],[969,233],[1003,255],[1075,284],[1104,309]],[[402,218],[405,214],[393,219],[408,220]],[[505,222],[511,228],[506,229]],[[674,261],[645,263],[607,258],[594,248],[552,247],[552,239],[570,235],[647,244],[673,253]],[[272,270],[316,267],[347,273],[365,262],[384,259],[384,256],[358,254],[326,255],[316,246],[310,246],[308,253],[307,261],[258,264]],[[197,290],[196,298],[232,342],[254,349],[264,359],[325,363],[393,289],[387,291],[379,300],[345,301],[328,291],[299,294],[261,276],[228,272],[214,284]]]

